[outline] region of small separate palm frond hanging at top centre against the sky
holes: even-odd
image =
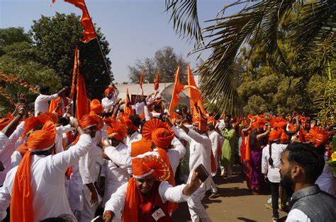
[[[182,39],[196,40],[196,44],[203,42],[201,26],[198,22],[197,0],[166,0],[166,11],[170,11],[173,27]]]

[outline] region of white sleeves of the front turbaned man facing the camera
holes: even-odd
[[[105,211],[112,211],[116,214],[116,218],[121,218],[123,215],[123,209],[125,207],[125,199],[127,192],[127,185],[125,183],[117,189],[117,191],[111,195],[111,198],[105,204]],[[183,189],[186,185],[179,185],[172,187],[167,181],[162,181],[159,185],[159,196],[163,203],[166,201],[182,202],[187,201],[189,196],[183,194]]]

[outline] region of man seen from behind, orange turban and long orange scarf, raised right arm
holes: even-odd
[[[26,155],[0,188],[0,220],[6,217],[9,204],[11,221],[41,221],[61,214],[74,218],[65,192],[65,171],[89,151],[91,138],[77,119],[72,120],[72,127],[79,134],[77,144],[55,155],[51,155],[56,134],[52,122],[30,134]]]

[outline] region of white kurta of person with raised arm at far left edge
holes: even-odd
[[[25,122],[21,122],[20,124],[18,124],[16,130],[14,130],[13,134],[9,136],[8,141],[6,141],[5,146],[0,151],[0,161],[5,168],[4,171],[0,172],[0,185],[4,183],[6,174],[9,172],[9,170],[11,170],[11,155],[13,154],[15,149],[21,145],[22,141],[20,140],[20,136],[22,136],[25,132],[24,125]]]

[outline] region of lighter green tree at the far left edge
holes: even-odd
[[[1,56],[0,71],[5,74],[13,74],[22,81],[37,86],[40,83],[50,86],[52,91],[61,87],[61,79],[56,72],[49,67],[36,62],[38,58],[37,49],[32,45],[32,41],[23,28],[0,29],[1,36]],[[17,93],[26,95],[30,109],[33,109],[33,103],[36,94],[21,86],[15,81],[6,82],[1,80],[0,85],[4,93],[8,94],[13,102],[16,102]],[[1,115],[13,111],[13,105],[9,100],[0,95]]]

